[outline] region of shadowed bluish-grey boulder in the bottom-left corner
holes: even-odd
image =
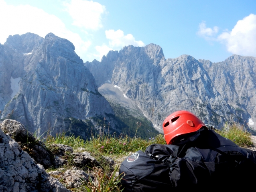
[[[7,125],[7,124],[4,124]],[[12,134],[19,129],[13,125]],[[0,128],[5,129],[3,125]],[[0,192],[69,192],[0,129]]]

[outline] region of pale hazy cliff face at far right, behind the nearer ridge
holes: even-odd
[[[217,91],[234,109],[233,117],[256,128],[256,58],[232,55],[225,61],[199,60]],[[250,119],[250,120],[249,120]],[[249,121],[249,122],[248,122]]]

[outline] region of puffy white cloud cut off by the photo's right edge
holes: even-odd
[[[218,40],[230,53],[256,57],[256,15],[239,20],[231,32],[223,32]]]

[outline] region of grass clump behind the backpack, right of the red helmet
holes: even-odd
[[[252,146],[251,133],[246,131],[239,123],[226,123],[221,131],[217,131],[221,136],[226,137],[240,147]]]

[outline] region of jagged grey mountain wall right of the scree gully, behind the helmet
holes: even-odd
[[[118,85],[158,127],[169,114],[178,110],[191,111],[205,123],[221,127],[225,121],[247,123],[254,115],[253,109],[250,109],[254,105],[247,105],[238,113],[231,104],[234,100],[232,95],[237,95],[232,87],[240,91],[247,89],[241,85],[239,77],[239,71],[246,69],[238,67],[236,72],[228,72],[225,67],[216,67],[227,63],[226,68],[231,68],[231,63],[242,66],[244,62],[253,71],[254,57],[236,59],[238,57],[241,58],[232,56],[216,64],[198,61],[189,55],[165,59],[160,46],[149,44],[145,47],[125,46],[119,52],[110,51],[101,62],[94,60],[84,65],[91,71],[99,87],[106,81],[111,81],[113,86]],[[228,76],[229,73],[237,73],[237,76]],[[223,86],[224,82],[230,80],[231,83]],[[248,76],[248,81],[254,82],[254,75]],[[252,90],[255,88],[252,87]],[[248,98],[252,97],[251,94]]]

